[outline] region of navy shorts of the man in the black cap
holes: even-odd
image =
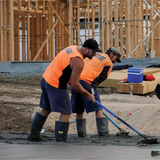
[[[41,99],[39,107],[51,112],[71,114],[71,103],[67,89],[59,89],[49,85],[41,79]]]

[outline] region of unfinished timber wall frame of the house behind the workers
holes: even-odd
[[[97,36],[104,52],[157,58],[159,23],[159,0],[0,0],[0,61],[51,61]]]

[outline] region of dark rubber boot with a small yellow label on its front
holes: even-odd
[[[55,136],[57,142],[66,142],[69,122],[55,122]]]

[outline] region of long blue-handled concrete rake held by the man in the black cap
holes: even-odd
[[[101,106],[103,109],[105,109],[107,112],[109,112],[111,115],[113,115],[115,118],[117,118],[118,120],[120,120],[122,123],[124,123],[126,126],[128,126],[129,128],[131,128],[133,131],[135,131],[137,134],[139,134],[142,138],[144,138],[144,140],[141,140],[142,143],[147,143],[147,144],[155,144],[157,143],[158,139],[149,139],[147,136],[145,136],[144,134],[140,133],[139,131],[137,131],[135,128],[133,128],[132,126],[130,126],[128,123],[126,123],[125,121],[123,121],[121,118],[119,118],[116,114],[114,114],[113,112],[111,112],[108,108],[104,107],[101,103],[99,103],[97,100],[95,100],[95,103],[98,104],[99,106]]]

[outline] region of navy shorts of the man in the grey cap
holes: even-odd
[[[94,95],[95,99],[98,102],[101,102],[97,87],[92,86],[82,80],[80,80],[79,83],[82,85],[82,87],[84,89],[86,89],[90,93],[91,93],[91,88],[93,88],[94,92],[95,92],[95,95]],[[99,107],[97,104],[94,104],[94,103],[88,101],[85,96],[77,93],[72,87],[71,87],[71,93],[72,93],[71,106],[72,106],[73,113],[82,113],[82,112],[84,112],[84,110],[86,110],[87,113],[102,110],[101,107]]]

